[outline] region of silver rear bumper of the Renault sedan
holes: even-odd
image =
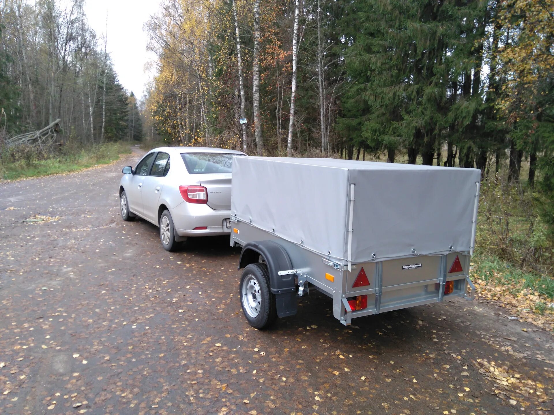
[[[231,229],[225,226],[230,210],[213,210],[208,205],[183,202],[170,210],[175,231],[179,236],[229,235]],[[206,226],[207,229],[194,229]]]

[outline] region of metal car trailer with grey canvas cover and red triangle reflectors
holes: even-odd
[[[232,177],[230,243],[242,247],[240,300],[255,328],[296,314],[312,288],[345,325],[473,299],[480,170],[236,157]]]

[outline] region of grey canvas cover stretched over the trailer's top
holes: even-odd
[[[442,255],[473,245],[477,169],[235,157],[232,177],[233,216],[336,260]]]

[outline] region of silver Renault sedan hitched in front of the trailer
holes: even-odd
[[[222,148],[155,148],[135,168],[122,170],[121,217],[140,216],[159,226],[167,251],[191,236],[229,234],[232,161],[245,155]]]

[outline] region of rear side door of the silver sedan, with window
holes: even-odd
[[[162,193],[166,175],[170,169],[170,155],[164,152],[156,154],[150,174],[142,184],[142,206],[145,219],[158,223],[158,200]]]

